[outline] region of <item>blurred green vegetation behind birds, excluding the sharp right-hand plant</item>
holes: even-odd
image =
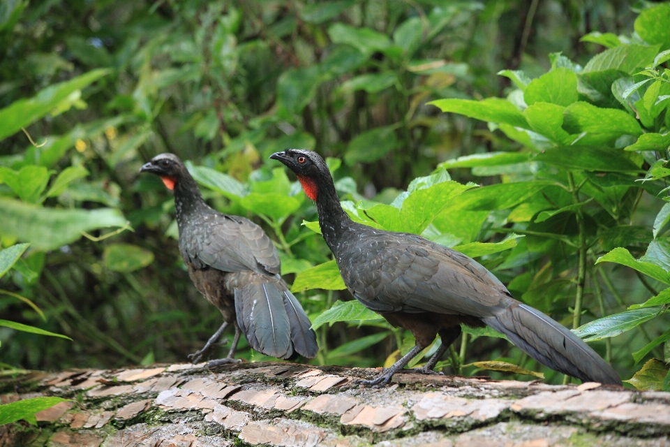
[[[392,203],[412,179],[430,175],[438,163],[472,154],[523,153],[526,146],[496,126],[426,103],[505,97],[516,87],[498,71],[521,70],[537,78],[552,68],[552,53],[585,66],[605,46],[583,36],[592,31],[632,36],[638,13],[650,6],[625,0],[3,0],[0,108],[6,108],[2,116],[8,121],[0,131],[0,170],[5,169],[0,234],[3,247],[17,240],[32,244],[0,280],[0,314],[72,338],[0,328],[3,367],[181,362],[218,328],[221,316],[195,290],[179,257],[170,193],[154,176],[138,174],[151,156],[172,152],[191,161],[212,206],[264,226],[278,244],[291,283],[295,274],[331,256],[320,235],[301,225],[317,220],[313,203],[267,159],[271,152],[299,147],[332,157],[340,197],[364,206]],[[38,95],[69,80],[80,83]],[[49,102],[54,91],[61,96]],[[28,105],[20,102],[33,97]],[[35,119],[23,132],[15,118],[29,114],[29,105]],[[39,107],[48,114],[36,111]],[[641,163],[649,168],[653,161]],[[447,167],[463,184],[509,182],[505,169]],[[68,176],[51,177],[66,169]],[[37,186],[13,186],[21,175]],[[54,189],[59,178],[63,186]],[[634,210],[636,226],[648,230],[627,245],[643,253],[663,202],[637,192],[625,200],[634,205],[618,223],[630,225]],[[81,210],[85,213],[75,214]],[[500,234],[490,229],[511,228],[510,211],[472,211],[470,220],[445,212],[428,230],[450,246],[496,242]],[[13,220],[5,219],[10,212]],[[576,240],[574,216],[551,231]],[[105,226],[126,229],[100,229]],[[69,240],[59,238],[63,228],[74,231]],[[589,233],[596,240],[597,231]],[[530,251],[519,242],[482,263],[496,268],[505,284],[522,277],[518,288],[510,287],[519,299],[531,279],[549,284],[533,305],[572,326],[577,254],[562,244],[537,248],[536,240]],[[590,268],[595,254],[589,255]],[[559,265],[561,257],[565,263]],[[601,266],[600,279],[587,280],[581,321],[622,312],[660,289],[660,283],[630,269]],[[303,277],[294,290],[301,291],[297,296],[312,318],[336,300],[351,299],[336,284],[309,279]],[[12,293],[32,300],[46,320]],[[640,367],[631,352],[664,332],[667,323],[667,316],[654,318],[607,346],[603,341],[593,346],[627,379]],[[377,367],[403,344],[411,345],[406,334],[375,320],[322,325],[318,334],[317,363]],[[244,342],[241,348],[241,357],[262,360]],[[460,359],[452,353],[458,363],[452,372],[473,374],[479,371],[475,366],[459,366],[502,359],[542,370],[549,381],[562,380],[503,339],[480,337],[467,349],[463,343],[458,354]],[[660,343],[650,356],[664,360],[670,353]]]

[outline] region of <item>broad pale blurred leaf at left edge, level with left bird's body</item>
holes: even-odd
[[[0,233],[31,242],[41,250],[57,249],[82,237],[82,232],[126,226],[119,210],[55,210],[27,205],[17,200],[0,199]]]

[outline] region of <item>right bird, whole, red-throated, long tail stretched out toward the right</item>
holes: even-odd
[[[489,325],[538,362],[582,381],[621,385],[616,371],[565,326],[512,298],[484,266],[459,251],[412,233],[352,221],[343,211],[321,156],[304,149],[271,154],[297,175],[315,201],[322,236],[350,293],[396,328],[410,330],[415,346],[375,379],[384,386],[437,335],[442,344],[415,372],[435,374],[442,354],[461,334],[461,323]]]

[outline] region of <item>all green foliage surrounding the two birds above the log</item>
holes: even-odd
[[[3,4],[0,248],[31,245],[7,255],[0,309],[34,326],[23,303],[37,303],[40,328],[74,340],[3,328],[3,361],[183,361],[218,326],[179,258],[169,193],[137,173],[161,152],[276,242],[314,362],[396,358],[412,338],[352,300],[315,206],[267,161],[287,147],[328,157],[353,220],[475,256],[516,298],[587,323],[622,376],[662,358],[667,5],[635,18],[620,0],[573,3],[539,2],[526,37],[521,0]],[[583,36],[583,17],[600,32]],[[503,353],[539,368],[490,328],[463,332],[452,371]]]

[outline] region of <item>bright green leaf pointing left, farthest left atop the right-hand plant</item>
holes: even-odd
[[[482,101],[472,101],[469,99],[449,98],[431,101],[429,104],[440,108],[442,112],[459,113],[460,115],[481,119],[482,121],[505,123],[532,130],[519,109],[506,99],[486,98]]]

